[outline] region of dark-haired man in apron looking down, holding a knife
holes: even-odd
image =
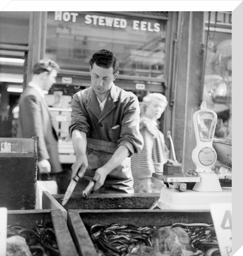
[[[81,190],[93,179],[95,193],[134,193],[130,156],[143,147],[138,99],[113,83],[119,72],[112,52],[100,50],[89,63],[91,87],[72,100],[72,177],[83,177]]]

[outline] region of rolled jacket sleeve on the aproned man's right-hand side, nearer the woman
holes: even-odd
[[[139,131],[140,120],[139,102],[134,94],[130,94],[126,103],[123,119],[121,121],[118,146],[125,145],[130,151],[130,156],[138,153],[143,148],[143,137]]]

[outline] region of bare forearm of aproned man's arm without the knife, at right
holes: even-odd
[[[109,174],[114,168],[120,165],[121,162],[123,162],[124,159],[129,156],[129,153],[129,149],[126,146],[119,146],[109,161],[103,166],[103,168],[105,168],[107,171],[107,174]]]

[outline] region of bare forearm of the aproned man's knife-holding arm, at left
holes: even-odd
[[[87,135],[78,130],[72,131],[72,144],[76,157],[86,154]]]

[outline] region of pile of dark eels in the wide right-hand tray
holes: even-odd
[[[99,256],[220,256],[213,225],[174,223],[166,227],[94,225],[91,238]]]

